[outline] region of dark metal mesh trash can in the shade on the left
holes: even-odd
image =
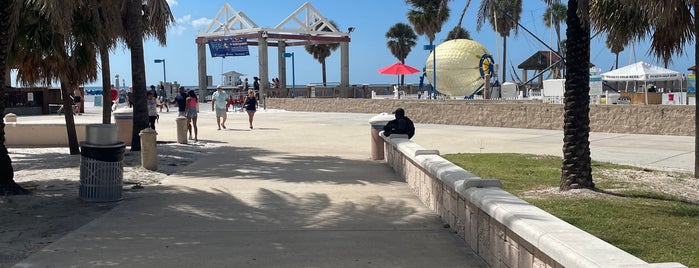
[[[124,151],[126,144],[84,143],[80,152],[79,197],[89,202],[113,202],[122,199]]]

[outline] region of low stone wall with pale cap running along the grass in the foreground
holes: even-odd
[[[648,264],[400,136],[384,138],[388,164],[491,267],[686,267]]]

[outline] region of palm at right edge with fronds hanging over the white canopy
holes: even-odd
[[[694,61],[699,63],[699,1],[592,0],[590,19],[595,29],[614,40],[651,38],[651,54],[667,64],[694,43]],[[694,12],[692,12],[692,10]],[[694,13],[694,14],[692,14]],[[613,19],[609,19],[613,18]],[[694,126],[699,130],[699,109]],[[699,135],[694,135],[694,177],[699,178]]]

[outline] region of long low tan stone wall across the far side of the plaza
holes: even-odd
[[[390,113],[398,107],[415,123],[562,129],[563,105],[540,101],[372,100],[296,98],[266,101],[268,109],[306,112]],[[696,106],[591,105],[593,132],[694,136]]]

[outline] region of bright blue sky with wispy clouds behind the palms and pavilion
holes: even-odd
[[[348,27],[354,27],[351,34],[349,65],[350,84],[391,84],[396,83],[395,76],[382,75],[377,72],[381,67],[390,65],[398,60],[386,47],[385,34],[396,23],[409,24],[406,13],[410,6],[403,0],[257,0],[257,1],[220,1],[220,0],[169,0],[175,24],[168,28],[167,45],[160,46],[155,40],[148,39],[144,43],[146,63],[146,83],[157,84],[163,80],[163,64],[155,63],[155,59],[165,59],[165,72],[167,81],[177,81],[181,85],[197,85],[197,49],[194,42],[196,35],[203,33],[211,20],[225,3],[228,3],[238,12],[244,12],[258,26],[273,28],[286,17],[292,14],[305,2],[309,2],[325,18],[337,23],[338,29],[346,31]],[[459,15],[466,5],[467,0],[450,1],[451,15],[449,20],[437,33],[435,43],[439,45],[459,20]],[[546,7],[543,1],[523,1],[523,11],[520,23],[534,33],[544,42],[555,42],[555,34],[548,29],[542,19]],[[492,30],[490,24],[484,24],[480,31],[476,30],[476,12],[480,1],[473,0],[462,27],[470,32],[472,40],[481,43],[488,49],[494,59],[500,63],[502,59],[502,39]],[[562,38],[565,38],[565,24],[562,25]],[[602,71],[609,71],[614,66],[615,56],[604,45],[604,35],[599,35],[591,42],[591,61]],[[645,61],[651,64],[663,66],[654,56],[648,54],[649,40],[637,42],[634,48],[627,47],[619,55],[619,67],[637,61]],[[429,51],[423,50],[423,46],[429,44],[426,36],[419,36],[417,45],[406,59],[406,64],[422,69],[429,55]],[[547,50],[546,47],[536,41],[534,37],[523,30],[517,35],[511,35],[507,40],[507,65],[515,68],[522,61],[539,50]],[[295,54],[296,84],[307,85],[309,83],[322,82],[321,65],[308,54],[303,47],[287,47],[287,52]],[[270,47],[269,53],[269,77],[278,77],[277,49]],[[217,57],[212,58],[207,48],[207,73],[213,77],[213,84],[221,84],[222,73],[237,71],[249,77],[258,76],[258,51],[256,46],[250,46],[249,56]],[[685,54],[673,58],[668,65],[669,69],[682,73],[689,73],[687,68],[693,66],[693,47],[686,46]],[[328,83],[340,81],[340,49],[327,58]],[[111,77],[115,75],[126,79],[126,86],[131,84],[130,52],[125,46],[119,46],[111,53]],[[517,71],[521,75],[521,71]],[[508,80],[512,80],[512,72],[507,73]],[[530,74],[531,77],[531,74]],[[100,76],[101,78],[101,76]],[[14,79],[13,79],[14,80]],[[291,61],[287,60],[287,82],[290,84]],[[408,75],[406,83],[417,84],[419,75]],[[101,86],[101,80],[97,80],[86,86]],[[13,81],[14,85],[14,81]]]

